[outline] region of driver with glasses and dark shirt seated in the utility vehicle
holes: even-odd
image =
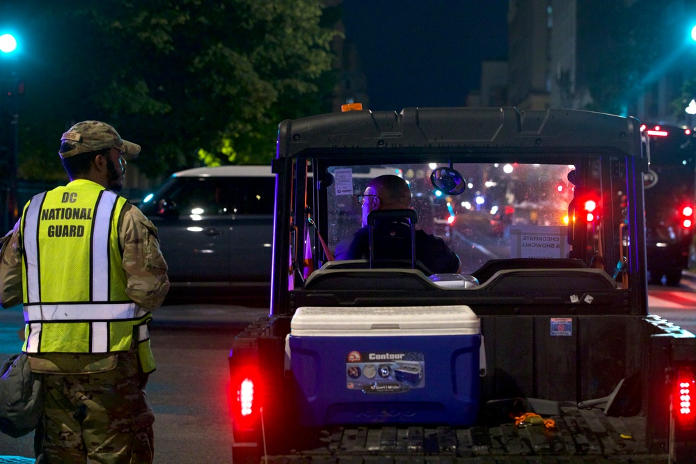
[[[363,206],[363,228],[338,243],[335,259],[368,259],[370,256],[370,230],[367,215],[379,209],[410,209],[409,184],[396,175],[381,175],[372,179],[363,195],[358,195]],[[436,274],[459,273],[461,264],[452,248],[440,237],[416,230],[416,259]]]

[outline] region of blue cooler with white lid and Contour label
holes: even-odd
[[[303,425],[471,425],[479,320],[468,306],[300,307],[286,349]]]

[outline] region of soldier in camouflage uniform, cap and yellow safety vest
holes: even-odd
[[[167,265],[155,226],[114,193],[140,146],[99,121],[61,141],[71,182],[27,203],[0,256],[0,303],[24,304],[23,351],[42,374],[37,461],[152,463],[148,322]]]

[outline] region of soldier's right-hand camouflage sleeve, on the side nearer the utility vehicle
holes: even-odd
[[[154,310],[169,291],[167,263],[159,249],[157,227],[133,205],[123,207],[119,225],[126,294],[140,307]]]

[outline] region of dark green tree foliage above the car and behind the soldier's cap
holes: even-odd
[[[161,175],[269,163],[280,120],[330,111],[339,33],[320,0],[12,3],[33,35],[22,70],[25,177],[49,177],[58,137],[80,120],[114,125],[143,146],[139,168]]]

